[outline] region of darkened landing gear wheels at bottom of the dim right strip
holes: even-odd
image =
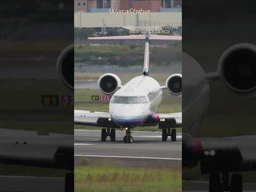
[[[222,180],[220,174],[217,172],[210,174],[209,180],[209,192],[242,192],[243,191],[243,178],[239,173],[231,175],[231,181],[229,181],[229,175],[227,172],[222,173]]]

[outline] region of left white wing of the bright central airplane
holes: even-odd
[[[74,110],[74,124],[119,128],[113,121],[111,121],[109,113],[97,111],[90,112],[86,110]]]

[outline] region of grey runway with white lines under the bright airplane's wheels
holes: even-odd
[[[75,163],[83,157],[93,162],[119,162],[126,166],[181,165],[181,133],[177,141],[162,142],[162,132],[134,131],[133,143],[124,143],[125,131],[116,131],[116,141],[100,141],[101,131],[75,130]]]

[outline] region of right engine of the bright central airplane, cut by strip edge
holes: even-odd
[[[180,96],[182,94],[182,75],[173,74],[166,80],[166,89],[173,95]]]

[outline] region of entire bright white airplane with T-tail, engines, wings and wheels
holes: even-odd
[[[171,136],[172,141],[176,141],[175,127],[180,127],[182,124],[181,113],[158,114],[157,109],[162,102],[163,89],[167,89],[175,96],[182,94],[182,76],[181,74],[171,75],[167,78],[164,86],[159,85],[154,78],[149,77],[149,44],[152,39],[181,41],[181,37],[150,35],[147,31],[145,35],[89,37],[89,39],[145,39],[143,73],[125,85],[122,85],[121,80],[115,74],[102,75],[98,81],[100,91],[103,94],[113,94],[109,102],[109,113],[75,110],[74,123],[103,127],[101,141],[106,141],[107,136],[110,136],[111,141],[115,141],[115,129],[125,129],[125,143],[133,142],[131,130],[134,127],[158,124],[159,129],[162,129],[162,141],[166,141],[168,136]]]

